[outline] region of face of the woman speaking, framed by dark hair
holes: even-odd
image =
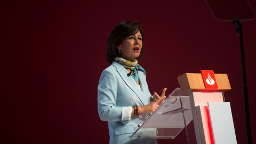
[[[142,49],[142,36],[140,31],[137,34],[131,35],[124,39],[118,50],[121,50],[122,58],[133,61],[140,56]]]

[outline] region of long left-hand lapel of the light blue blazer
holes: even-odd
[[[140,87],[135,83],[134,79],[132,76],[127,76],[128,71],[118,62],[113,62],[112,65],[114,65],[117,69],[117,72],[119,75],[122,77],[123,81],[127,84],[127,86],[130,87],[130,89],[137,94],[137,97],[140,99],[141,103],[145,105],[143,101],[145,101],[145,95],[141,91]],[[140,78],[140,77],[139,77]],[[146,102],[146,101],[145,101]]]

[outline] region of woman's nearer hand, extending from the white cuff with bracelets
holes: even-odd
[[[162,95],[159,99],[157,99],[154,102],[149,103],[146,106],[138,106],[139,114],[153,113],[159,107],[159,105],[161,105],[161,103],[164,101],[165,98],[166,98],[166,96]]]

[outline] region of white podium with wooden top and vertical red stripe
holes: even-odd
[[[213,71],[212,71],[213,73]],[[209,74],[208,74],[209,75]],[[231,90],[227,74],[213,74],[218,88],[207,89],[201,74],[178,76],[181,91],[188,91],[197,143],[237,143],[230,103],[223,92]],[[208,76],[210,80],[211,77]]]

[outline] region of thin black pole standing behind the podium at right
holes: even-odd
[[[251,144],[252,143],[251,123],[250,123],[249,101],[248,101],[248,93],[247,93],[247,85],[246,85],[246,77],[245,77],[245,64],[244,64],[243,25],[239,18],[235,18],[233,24],[234,23],[236,23],[236,33],[239,33],[239,37],[240,37],[247,142]]]

